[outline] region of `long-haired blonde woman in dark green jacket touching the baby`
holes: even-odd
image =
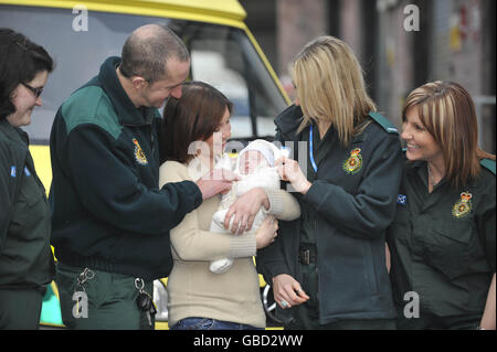
[[[307,44],[292,77],[297,99],[276,118],[276,139],[299,163],[275,164],[297,191],[302,216],[279,222],[285,235],[257,262],[276,313],[286,329],[393,329],[384,241],[401,182],[399,134],[376,113],[342,41]]]

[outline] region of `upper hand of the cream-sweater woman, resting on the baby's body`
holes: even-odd
[[[231,218],[234,216],[231,226],[231,232],[233,234],[242,234],[245,231],[250,231],[254,223],[255,215],[257,215],[262,205],[264,205],[265,209],[269,209],[269,201],[266,192],[262,188],[250,190],[240,196],[228,210],[226,216],[224,217],[224,228],[230,228]]]

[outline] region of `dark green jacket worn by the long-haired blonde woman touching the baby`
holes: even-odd
[[[290,106],[275,120],[276,140],[290,147],[299,162],[307,162],[305,134],[297,134],[302,109]],[[316,214],[319,323],[349,319],[393,319],[396,316],[385,267],[384,237],[394,217],[402,174],[398,130],[387,118],[370,113],[371,124],[341,146],[335,130],[329,152],[306,195],[293,193]],[[289,143],[289,146],[288,146]],[[304,158],[305,157],[305,158]],[[304,285],[298,265],[300,222],[279,222],[279,236],[258,250],[257,268],[266,282],[288,274]],[[289,323],[295,308],[276,308]]]

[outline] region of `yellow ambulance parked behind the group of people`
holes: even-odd
[[[43,90],[43,106],[33,111],[32,122],[25,127],[45,189],[50,190],[52,178],[49,138],[57,108],[97,74],[106,57],[120,56],[126,38],[146,23],[172,29],[190,51],[190,78],[210,83],[234,103],[232,139],[273,137],[273,120],[289,100],[244,23],[245,17],[236,0],[0,0],[0,26],[40,43],[56,64]],[[167,327],[163,285],[166,280],[155,282],[159,329]],[[261,278],[271,317],[274,302],[264,286]],[[41,322],[44,327],[62,327],[54,282],[44,299]]]

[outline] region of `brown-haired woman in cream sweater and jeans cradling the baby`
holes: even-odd
[[[161,131],[160,185],[213,175],[215,159],[231,136],[231,110],[232,104],[222,93],[200,82],[184,84],[181,98],[169,99]],[[264,206],[273,215],[255,234],[209,232],[220,196],[204,201],[171,231],[175,259],[168,279],[171,329],[265,328],[253,256],[256,249],[274,241],[275,217],[294,220],[300,215],[300,209],[283,190],[255,189],[244,196],[242,202],[251,204],[253,213]],[[243,225],[250,228],[250,224]],[[235,259],[232,268],[221,275],[211,273],[210,262],[223,257]]]

